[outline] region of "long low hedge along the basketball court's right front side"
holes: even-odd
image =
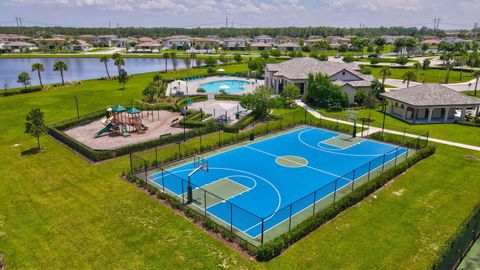
[[[409,157],[405,162],[390,168],[383,174],[372,179],[371,181],[361,185],[350,194],[346,195],[336,203],[328,206],[317,214],[306,219],[298,226],[293,228],[290,232],[284,233],[275,239],[260,245],[257,248],[255,257],[259,261],[268,261],[278,256],[284,249],[302,239],[309,233],[313,232],[325,222],[333,219],[342,211],[360,202],[368,195],[372,194],[379,188],[383,187],[387,182],[394,177],[405,172],[409,167],[413,166],[420,160],[427,158],[435,153],[435,146],[428,146],[422,150],[417,151],[413,156]]]

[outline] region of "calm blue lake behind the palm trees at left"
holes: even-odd
[[[68,71],[64,72],[65,81],[79,81],[106,77],[104,63],[100,63],[98,58],[11,58],[0,59],[0,89],[8,83],[8,88],[23,87],[17,83],[17,77],[20,72],[30,73],[32,85],[39,85],[38,75],[32,72],[33,63],[42,63],[45,71],[42,72],[43,84],[61,82],[60,72],[53,71],[53,64],[57,60],[62,60],[68,65]],[[165,59],[163,58],[124,58],[123,67],[128,74],[138,74],[152,71],[165,70]],[[195,60],[192,61],[195,64]],[[202,61],[203,63],[203,61]],[[185,60],[177,59],[177,68],[184,68]],[[167,69],[173,69],[172,61],[167,60]],[[113,65],[113,60],[108,62],[110,76],[118,74],[117,67]]]

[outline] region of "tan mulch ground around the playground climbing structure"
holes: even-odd
[[[85,144],[95,150],[115,149],[126,145],[136,144],[139,142],[150,141],[166,134],[177,134],[183,132],[183,128],[172,127],[172,121],[182,119],[180,113],[169,111],[150,111],[142,113],[142,123],[148,129],[141,132],[131,132],[130,136],[123,137],[118,133],[106,132],[102,136],[95,138],[95,134],[105,126],[100,119],[91,123],[65,130],[65,133],[75,140]],[[131,127],[130,127],[131,128]]]

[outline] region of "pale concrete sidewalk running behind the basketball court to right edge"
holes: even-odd
[[[318,119],[322,119],[322,120],[327,120],[327,121],[332,121],[332,122],[337,122],[338,123],[342,123],[342,124],[346,124],[346,125],[351,125],[353,126],[353,123],[352,122],[349,122],[349,121],[344,121],[344,120],[337,120],[335,118],[330,118],[330,117],[325,117],[325,116],[322,116],[320,113],[318,113],[317,111],[315,111],[314,109],[312,109],[310,106],[308,106],[307,104],[303,103],[301,100],[295,100],[295,103],[304,108],[308,113],[310,113],[313,117],[315,118],[318,118]],[[369,127],[367,130],[364,130],[363,131],[363,134],[365,136],[368,136],[368,134],[372,134],[372,133],[375,133],[375,132],[379,132],[381,131],[380,128],[378,127]],[[396,130],[390,130],[390,129],[384,129],[384,132],[385,133],[390,133],[390,134],[395,134],[395,135],[404,135],[403,132],[400,132],[400,131],[396,131]],[[357,135],[361,135],[362,133],[359,132]],[[405,133],[405,136],[407,137],[411,137],[411,138],[418,138],[418,135],[415,135],[415,134],[410,134],[410,133]],[[427,139],[426,137],[423,137],[421,136],[420,137],[421,139]],[[445,145],[450,145],[450,146],[455,146],[455,147],[460,147],[460,148],[464,148],[464,149],[468,149],[468,150],[474,150],[474,151],[480,151],[480,147],[479,146],[474,146],[474,145],[469,145],[469,144],[463,144],[463,143],[457,143],[457,142],[452,142],[452,141],[446,141],[446,140],[441,140],[441,139],[436,139],[436,138],[428,138],[429,141],[431,142],[436,142],[436,143],[440,143],[440,144],[445,144]]]

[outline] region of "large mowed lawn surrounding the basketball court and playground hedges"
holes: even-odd
[[[150,78],[134,76],[126,90],[87,81],[0,98],[0,253],[8,269],[426,269],[480,201],[480,162],[465,158],[479,153],[439,146],[375,197],[258,263],[120,180],[126,157],[91,164],[48,136],[44,152],[22,156],[36,143],[23,133],[31,108],[49,122],[69,118],[75,94],[86,113],[140,97]]]

